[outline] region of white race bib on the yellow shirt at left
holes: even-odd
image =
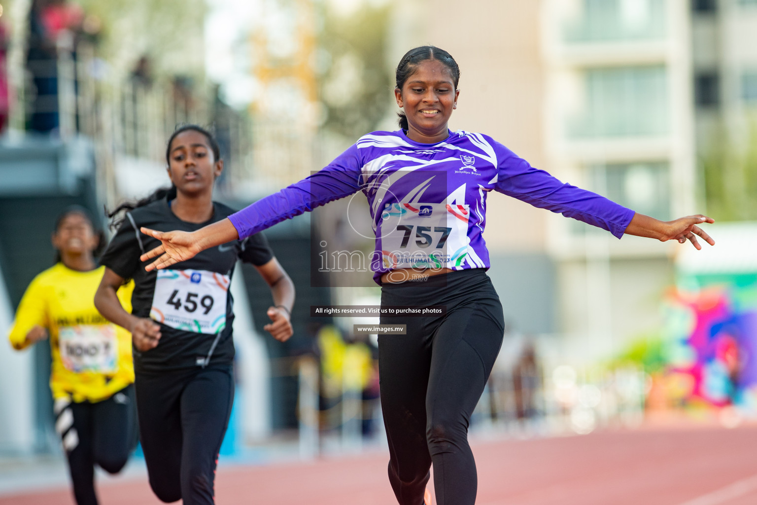
[[[110,324],[61,326],[61,362],[71,372],[115,373],[118,368],[116,328]]]

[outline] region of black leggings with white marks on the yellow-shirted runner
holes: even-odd
[[[118,473],[136,445],[133,386],[97,403],[55,401],[55,430],[66,451],[76,503],[97,505],[95,463]]]

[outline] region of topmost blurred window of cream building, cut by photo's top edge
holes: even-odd
[[[580,17],[565,26],[565,41],[662,39],[665,4],[665,0],[583,0]]]

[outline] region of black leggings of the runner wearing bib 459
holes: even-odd
[[[137,373],[139,435],[162,501],[209,505],[234,399],[232,366]]]

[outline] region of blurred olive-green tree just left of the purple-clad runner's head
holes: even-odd
[[[388,20],[388,5],[368,2],[350,14],[328,5],[324,12],[316,62],[321,127],[350,142],[374,130],[391,106]]]

